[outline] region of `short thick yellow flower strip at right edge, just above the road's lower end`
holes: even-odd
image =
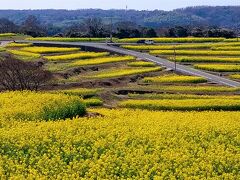
[[[217,72],[240,72],[240,65],[236,64],[196,64],[194,68]]]

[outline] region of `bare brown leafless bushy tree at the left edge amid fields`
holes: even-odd
[[[38,90],[52,78],[49,71],[33,62],[24,62],[6,56],[0,60],[0,86],[6,90]]]

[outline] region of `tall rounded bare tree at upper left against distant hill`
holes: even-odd
[[[21,31],[24,34],[32,37],[41,37],[46,35],[46,30],[40,25],[36,16],[28,16],[21,26]]]

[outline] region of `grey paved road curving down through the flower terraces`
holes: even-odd
[[[29,41],[21,41],[21,42],[29,42]],[[147,53],[141,53],[141,52],[137,52],[137,51],[126,50],[126,49],[123,49],[123,48],[120,48],[117,46],[113,46],[113,45],[107,45],[105,43],[46,42],[46,41],[31,41],[31,42],[34,44],[39,44],[39,45],[41,45],[41,44],[42,45],[72,45],[72,46],[86,46],[86,47],[98,48],[98,49],[111,51],[111,52],[115,52],[115,53],[119,53],[119,54],[132,55],[137,58],[155,62],[156,64],[158,64],[160,66],[165,66],[167,68],[171,68],[171,69],[175,68],[175,64],[169,60],[155,57],[155,56],[149,55]],[[201,70],[197,70],[197,69],[191,68],[189,66],[177,64],[177,71],[184,73],[184,74],[188,74],[188,75],[204,77],[211,82],[215,82],[215,83],[218,83],[221,85],[226,85],[226,86],[230,86],[230,87],[240,87],[239,82],[236,82],[236,81],[233,81],[230,79],[226,79],[224,77],[216,76],[216,75],[213,75],[213,74],[210,74],[207,72],[203,72]]]

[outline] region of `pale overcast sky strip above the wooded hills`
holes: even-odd
[[[239,6],[240,0],[1,0],[0,9],[129,9],[172,10],[187,6]]]

